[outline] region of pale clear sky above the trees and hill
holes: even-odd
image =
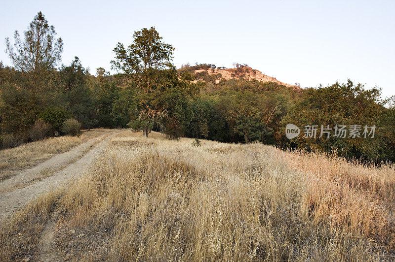
[[[301,87],[346,82],[395,95],[395,1],[2,1],[4,39],[25,31],[42,11],[64,41],[62,63],[78,56],[95,74],[110,70],[118,42],[155,26],[172,44],[173,63],[247,64]],[[1,50],[2,49],[2,50]]]

